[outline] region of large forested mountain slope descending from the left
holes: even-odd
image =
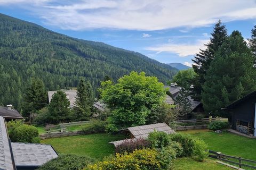
[[[142,54],[104,43],[71,38],[37,24],[0,14],[0,105],[20,108],[31,77],[48,90],[76,87],[79,77],[94,92],[109,75],[116,81],[131,71],[144,71],[166,82],[178,72]]]

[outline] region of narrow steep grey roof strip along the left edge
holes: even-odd
[[[4,118],[0,116],[0,169],[13,170],[9,138],[7,135]]]

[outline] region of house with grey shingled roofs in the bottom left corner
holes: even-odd
[[[11,142],[4,117],[0,116],[0,169],[37,169],[57,157],[51,145]]]

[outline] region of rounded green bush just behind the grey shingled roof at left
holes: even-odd
[[[38,137],[38,134],[35,126],[23,124],[13,130],[11,141],[31,143],[33,138]]]

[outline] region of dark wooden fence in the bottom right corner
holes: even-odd
[[[212,150],[209,150],[209,157],[219,159],[223,162],[228,162],[234,165],[238,165],[239,168],[242,167],[249,167],[252,169],[256,169],[256,161],[250,160],[250,159],[244,159],[241,157],[235,157],[230,155],[222,154],[221,152],[215,152]],[[248,164],[249,163],[249,164]]]

